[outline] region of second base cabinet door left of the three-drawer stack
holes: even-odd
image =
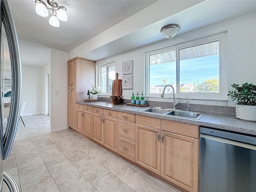
[[[103,145],[103,116],[92,114],[92,139]]]

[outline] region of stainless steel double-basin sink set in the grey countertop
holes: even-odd
[[[184,111],[184,110],[161,108],[161,107],[149,107],[145,109],[140,109],[139,111],[148,112],[152,114],[162,114],[165,116],[175,116],[179,118],[195,119],[195,120],[200,119],[201,116],[203,115],[203,113],[201,112]]]

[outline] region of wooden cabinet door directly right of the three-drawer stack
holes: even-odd
[[[136,125],[136,163],[161,175],[160,130]]]

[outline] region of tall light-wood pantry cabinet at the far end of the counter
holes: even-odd
[[[95,84],[95,61],[75,57],[68,60],[68,126],[76,130],[76,101],[84,102]]]

